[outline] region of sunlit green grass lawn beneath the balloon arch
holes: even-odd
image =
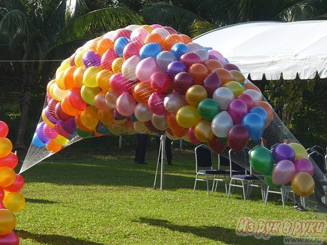
[[[16,213],[20,244],[283,244],[283,236],[237,236],[240,217],[327,219],[294,211],[291,202],[283,209],[280,195],[271,194],[264,206],[259,189],[246,202],[241,188],[227,199],[223,185],[208,197],[205,182],[198,182],[194,194],[192,152],[173,153],[163,191],[159,178],[153,189],[154,150],[148,165],[135,165],[132,151],[94,154],[68,147],[22,174],[27,202]]]

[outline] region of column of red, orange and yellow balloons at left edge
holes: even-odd
[[[25,198],[19,190],[24,186],[24,179],[13,170],[17,156],[12,153],[12,143],[6,138],[8,126],[0,121],[0,244],[19,244],[18,236],[13,229],[16,226],[18,212],[25,207]]]

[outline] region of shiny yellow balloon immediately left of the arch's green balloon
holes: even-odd
[[[194,106],[182,106],[176,113],[177,124],[183,128],[191,128],[201,120],[198,109]]]

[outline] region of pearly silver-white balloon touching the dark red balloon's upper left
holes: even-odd
[[[211,122],[211,130],[219,138],[227,136],[229,129],[233,126],[233,119],[227,111],[218,113]]]

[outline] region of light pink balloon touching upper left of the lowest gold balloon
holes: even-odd
[[[292,180],[295,174],[295,165],[290,160],[282,160],[272,169],[271,179],[274,185],[285,185]]]

